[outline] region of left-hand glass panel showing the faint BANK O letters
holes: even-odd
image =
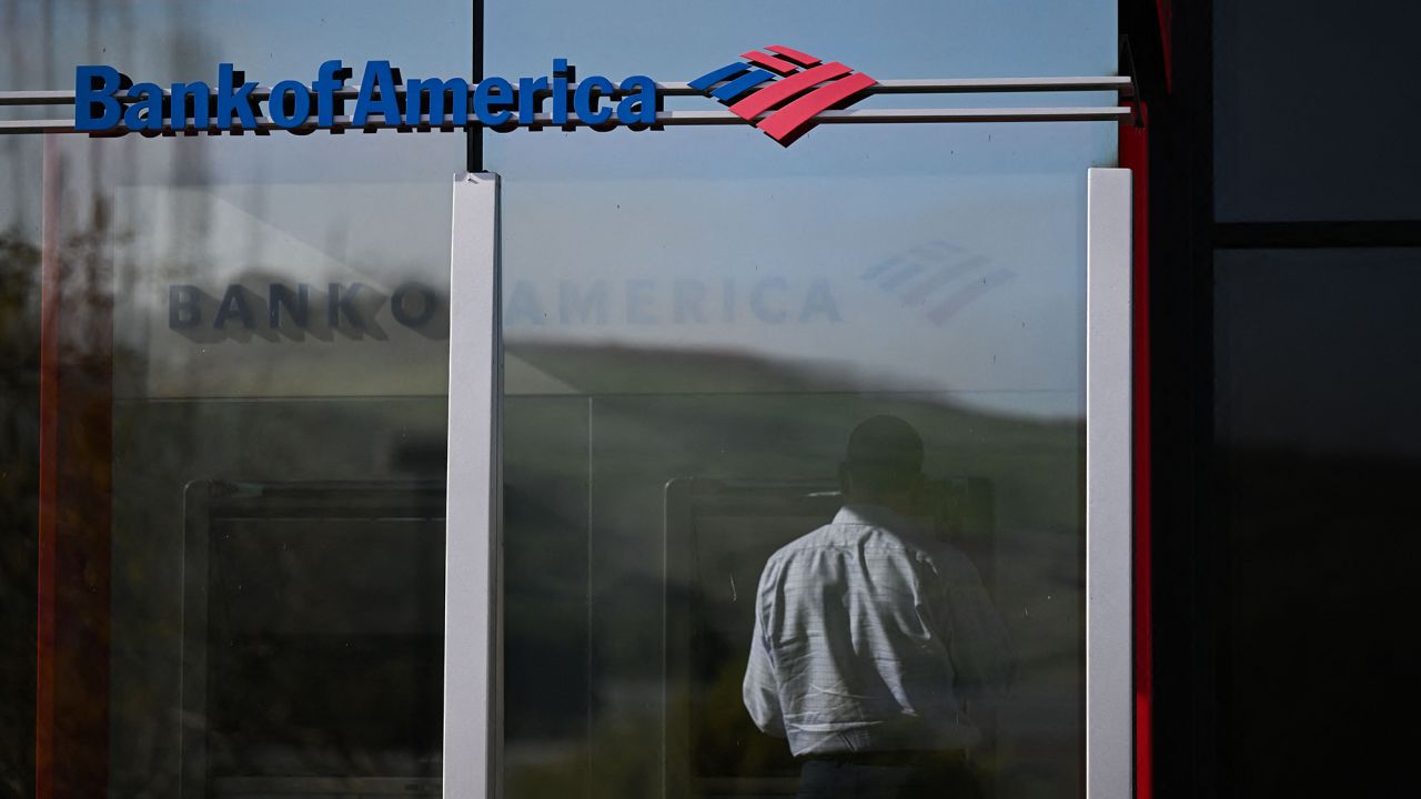
[[[61,90],[91,63],[163,84],[232,61],[270,85],[328,57],[428,75],[472,61],[466,0],[7,14],[7,90]],[[57,712],[60,795],[436,795],[466,136],[16,146],[28,162],[4,210],[36,253],[41,218],[55,230],[60,412],[88,414],[58,465],[60,523],[88,536],[88,566],[61,560],[57,586],[53,685],[85,708]]]

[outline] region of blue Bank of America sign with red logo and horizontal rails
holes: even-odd
[[[389,61],[355,70],[341,60],[315,68],[314,80],[249,81],[234,64],[217,64],[210,78],[159,85],[135,82],[118,67],[80,65],[70,91],[0,91],[3,105],[68,105],[68,119],[0,119],[0,134],[80,132],[98,136],[222,135],[290,131],[453,131],[473,127],[630,128],[749,124],[789,146],[826,124],[1128,121],[1130,78],[928,78],[875,80],[843,61],[772,44],[747,50],[703,75],[657,81],[645,74],[612,80],[578,77],[567,58],[547,75],[479,81],[406,77]],[[865,98],[888,94],[1103,92],[1114,104],[1012,108],[882,108]],[[702,97],[720,108],[676,108],[668,97]]]

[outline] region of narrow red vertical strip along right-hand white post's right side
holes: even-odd
[[[1137,112],[1147,118],[1144,105]],[[1152,663],[1150,617],[1150,138],[1147,127],[1120,125],[1120,165],[1134,196],[1134,677],[1135,796],[1152,796]]]

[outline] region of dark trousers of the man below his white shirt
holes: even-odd
[[[827,758],[800,768],[799,799],[980,799],[962,762]]]

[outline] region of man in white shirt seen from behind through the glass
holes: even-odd
[[[801,798],[979,795],[965,704],[1006,688],[1010,647],[968,559],[908,520],[922,452],[897,417],[858,425],[843,509],[760,576],[745,707],[789,739]]]

